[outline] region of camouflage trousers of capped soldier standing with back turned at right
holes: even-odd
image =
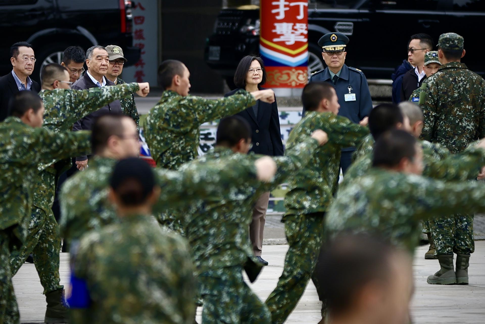
[[[452,255],[453,252],[469,255],[475,251],[473,215],[457,214],[435,218],[430,224],[436,255]]]

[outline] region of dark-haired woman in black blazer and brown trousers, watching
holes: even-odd
[[[265,82],[266,71],[264,70],[263,60],[257,56],[244,56],[234,75],[234,84],[238,88],[226,93],[225,97],[233,95],[241,89],[248,92],[262,90],[261,85]],[[251,125],[252,152],[271,156],[283,155],[284,149],[276,101],[266,103],[258,100],[254,106],[236,115],[246,119]],[[269,198],[269,192],[265,192],[259,197],[253,209],[253,221],[249,226],[249,237],[253,243],[254,254],[259,257],[264,265],[268,265],[268,262],[261,258],[261,249]]]

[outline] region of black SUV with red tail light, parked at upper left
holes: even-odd
[[[12,70],[10,46],[19,41],[32,44],[35,81],[44,65],[61,63],[62,53],[73,45],[85,50],[118,45],[132,65],[140,58],[132,25],[129,0],[0,0],[0,75]]]

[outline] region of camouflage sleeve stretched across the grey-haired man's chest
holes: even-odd
[[[138,90],[140,87],[137,83],[94,87],[86,90],[65,90],[64,119],[68,120],[69,125],[74,124],[108,103],[127,97]]]

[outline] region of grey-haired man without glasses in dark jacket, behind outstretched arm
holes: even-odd
[[[88,70],[72,85],[72,89],[89,89],[95,86],[103,87],[105,85],[114,85],[113,82],[105,77],[108,72],[108,52],[102,46],[93,46],[86,51],[86,65]],[[94,119],[97,116],[104,115],[106,112],[119,114],[123,113],[119,100],[115,100],[108,105],[100,108],[94,113],[89,114],[83,119],[77,121],[73,130],[91,130]],[[78,169],[84,169],[88,164],[87,156],[77,156],[76,166]]]

